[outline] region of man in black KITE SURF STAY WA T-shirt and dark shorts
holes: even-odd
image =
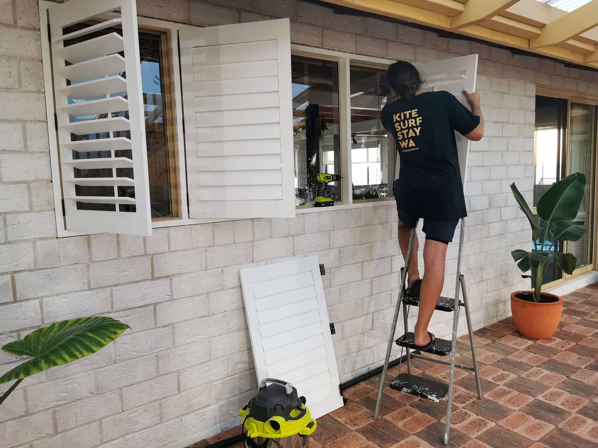
[[[399,218],[399,246],[403,257],[411,229],[423,219],[425,275],[417,267],[417,235],[408,263],[407,296],[419,296],[419,314],[414,345],[430,348],[434,335],[428,332],[432,312],[444,285],[447,245],[453,241],[459,219],[467,216],[454,131],[466,139],[480,140],[484,119],[480,94],[463,91],[471,112],[446,91],[420,93],[423,79],[416,67],[399,61],[388,69],[390,102],[382,109],[382,124],[395,137],[401,159],[399,178],[393,185]]]

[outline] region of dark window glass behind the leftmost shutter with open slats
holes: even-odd
[[[64,33],[69,33],[86,27],[86,24],[76,24],[64,29]],[[116,32],[122,35],[122,29],[109,28],[99,30],[89,35],[77,39],[65,41],[65,45],[73,45],[78,42],[105,35],[106,33]],[[171,154],[167,141],[167,122],[166,122],[166,103],[165,103],[165,85],[164,85],[164,58],[162,54],[162,36],[158,33],[139,32],[139,53],[141,56],[141,81],[143,90],[143,102],[145,110],[145,135],[147,143],[148,174],[149,174],[149,200],[151,204],[151,217],[172,217],[173,216],[173,189],[171,179]],[[123,53],[121,53],[123,56]],[[127,77],[126,72],[114,73],[123,78]],[[112,75],[111,75],[112,76]],[[87,82],[84,79],[80,82]],[[69,82],[70,84],[70,82]],[[75,83],[72,83],[75,84]],[[126,92],[112,93],[111,96],[123,96],[126,98]],[[100,97],[91,97],[86,99],[71,99],[69,103],[85,102],[99,99]],[[83,121],[97,118],[107,118],[108,116],[123,116],[129,118],[129,112],[112,112],[110,114],[94,116],[71,116],[71,122]],[[71,134],[71,139],[91,140],[105,139],[111,137],[110,133],[75,135]],[[112,133],[112,137],[130,138],[130,131],[117,131]],[[73,151],[74,159],[84,158],[106,158],[111,157],[110,151],[100,152],[76,152]],[[114,151],[114,157],[131,158],[130,150]],[[103,168],[75,170],[75,177],[130,177],[133,179],[133,168]],[[132,186],[97,187],[81,186],[75,187],[77,195],[82,196],[124,196],[135,197],[135,189]],[[80,210],[118,210],[135,211],[135,205],[129,204],[89,204],[77,202],[77,208]]]

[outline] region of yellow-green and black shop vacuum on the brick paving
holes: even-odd
[[[260,391],[239,410],[245,448],[307,448],[316,421],[291,383],[266,378]]]

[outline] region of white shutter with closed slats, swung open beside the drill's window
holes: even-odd
[[[289,20],[179,39],[189,216],[294,217]]]

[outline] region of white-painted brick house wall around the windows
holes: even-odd
[[[146,238],[56,240],[37,6],[4,4],[0,344],[85,315],[109,315],[132,330],[84,360],[24,381],[0,407],[0,447],[182,447],[239,424],[236,412],[257,387],[239,269],[291,256],[318,254],[326,266],[341,381],[382,363],[403,264],[394,205],[155,229]],[[294,42],[370,56],[423,61],[478,53],[487,124],[469,154],[463,274],[475,328],[508,315],[510,291],[524,286],[508,254],[530,237],[509,184],[532,199],[535,84],[598,93],[595,73],[301,0],[138,0],[138,10],[202,25],[291,17]],[[450,296],[456,245],[447,259],[443,293]],[[449,320],[434,315],[431,327],[447,336]],[[17,363],[0,352],[0,374]]]

